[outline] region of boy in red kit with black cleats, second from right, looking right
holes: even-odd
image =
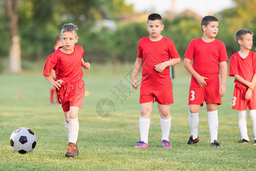
[[[219,147],[218,110],[221,97],[226,92],[227,52],[223,42],[215,39],[218,34],[218,19],[212,15],[202,18],[202,38],[193,39],[185,52],[184,66],[192,75],[189,88],[189,127],[191,136],[186,145],[199,141],[198,112],[206,102],[211,145]],[[193,66],[192,66],[193,60]],[[221,84],[218,77],[221,68]]]

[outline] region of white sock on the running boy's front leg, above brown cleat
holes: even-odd
[[[78,130],[79,130],[78,118],[69,119],[69,120],[70,120],[70,129],[68,131],[68,142],[76,144],[76,141],[78,141]]]

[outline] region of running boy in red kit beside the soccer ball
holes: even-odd
[[[44,78],[56,87],[64,111],[69,142],[66,157],[78,156],[78,109],[83,106],[85,91],[81,62],[84,68],[90,68],[90,63],[83,62],[83,47],[75,46],[78,42],[77,30],[78,27],[72,23],[62,27],[60,40],[63,46],[48,56],[43,70]],[[51,76],[52,69],[56,71],[56,81]]]

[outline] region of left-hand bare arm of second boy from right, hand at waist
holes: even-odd
[[[192,66],[192,60],[188,59],[188,58],[184,58],[184,67],[186,68],[186,70],[189,71],[189,73],[197,80],[197,83],[201,86],[201,87],[205,87],[207,86],[205,79],[208,79],[204,76],[199,75],[193,68]]]

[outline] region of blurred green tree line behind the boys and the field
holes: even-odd
[[[16,6],[11,7],[17,8],[23,61],[45,60],[64,23],[78,25],[78,44],[84,47],[85,58],[89,62],[134,62],[140,38],[148,36],[145,27],[147,15],[136,14],[133,6],[126,5],[124,0],[0,0],[0,71],[8,69],[4,61],[9,59],[14,40],[11,39],[13,28],[7,1],[13,2]],[[256,1],[233,1],[235,7],[214,14],[219,19],[217,39],[225,43],[229,56],[239,50],[234,40],[235,31],[247,28],[256,33]],[[190,40],[202,36],[201,18],[169,15],[172,15],[171,19],[163,19],[165,27],[162,35],[172,39],[183,56]],[[145,19],[141,20],[141,17]],[[112,27],[103,25],[105,22]]]

